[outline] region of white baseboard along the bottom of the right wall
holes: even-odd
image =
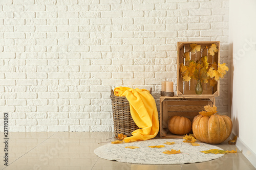
[[[236,136],[233,132],[231,133],[231,139]],[[256,154],[241,140],[237,139],[236,147],[242,151],[242,154],[250,161],[250,163],[256,168]]]

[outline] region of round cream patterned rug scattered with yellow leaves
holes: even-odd
[[[222,157],[224,154],[204,154],[200,151],[210,149],[219,149],[214,145],[199,143],[199,146],[193,146],[190,143],[184,143],[184,139],[151,139],[146,141],[136,141],[132,143],[112,144],[108,143],[94,150],[94,153],[103,159],[116,160],[125,163],[138,164],[184,164],[205,162]],[[175,144],[164,144],[166,141],[175,142]],[[148,146],[164,145],[164,148],[149,148]],[[137,149],[125,148],[129,146],[139,147]],[[168,150],[180,150],[180,154],[163,154]]]

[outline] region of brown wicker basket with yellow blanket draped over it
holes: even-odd
[[[150,89],[150,93],[152,88]],[[132,136],[132,132],[139,127],[135,124],[130,112],[130,103],[122,96],[115,96],[114,91],[111,89],[110,99],[112,101],[112,111],[114,120],[115,135],[122,133],[126,136]]]

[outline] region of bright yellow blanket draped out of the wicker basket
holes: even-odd
[[[133,136],[124,138],[124,142],[154,138],[159,131],[159,122],[156,102],[150,91],[116,87],[114,93],[116,96],[125,96],[129,101],[133,120],[140,128],[133,131]]]

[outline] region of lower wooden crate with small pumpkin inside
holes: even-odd
[[[206,105],[215,105],[215,98],[160,97],[160,137],[182,138],[183,135],[174,135],[169,132],[168,119],[178,115],[187,117],[192,122],[193,118],[204,110]]]

